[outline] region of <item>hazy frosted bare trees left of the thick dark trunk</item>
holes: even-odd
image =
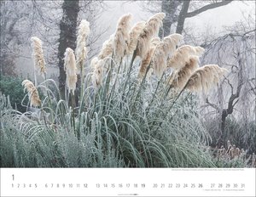
[[[47,66],[55,55],[56,28],[60,17],[57,1],[1,1],[1,70],[17,75],[15,65],[20,59],[31,59],[30,38],[37,36],[48,50],[44,51]],[[32,61],[31,61],[32,62]],[[27,66],[27,65],[24,65]],[[25,67],[26,68],[26,67]]]

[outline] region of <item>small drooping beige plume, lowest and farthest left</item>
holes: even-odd
[[[27,91],[30,100],[30,106],[39,107],[41,105],[41,100],[38,95],[37,87],[29,80],[24,80],[21,83],[24,86],[24,92]]]

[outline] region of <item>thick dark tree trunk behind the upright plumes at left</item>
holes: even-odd
[[[79,0],[64,0],[62,4],[63,16],[60,22],[60,38],[58,48],[59,59],[59,87],[62,98],[65,97],[66,73],[64,71],[64,53],[66,48],[76,48],[76,27],[79,14]]]

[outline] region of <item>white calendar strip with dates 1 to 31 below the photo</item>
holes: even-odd
[[[1,196],[255,196],[255,168],[1,168]]]

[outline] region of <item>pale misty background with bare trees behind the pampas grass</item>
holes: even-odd
[[[201,65],[216,64],[230,71],[211,93],[201,95],[201,121],[211,133],[212,144],[224,144],[231,139],[232,143],[255,151],[254,1],[80,1],[79,12],[72,7],[69,10],[71,15],[78,14],[73,19],[75,25],[67,17],[64,3],[70,2],[1,1],[1,76],[32,78],[30,38],[39,37],[44,42],[47,76],[59,82],[59,70],[63,69],[61,50],[65,49],[60,48],[61,39],[70,39],[73,46],[80,20],[90,21],[86,46],[89,66],[102,43],[114,33],[120,16],[131,13],[135,24],[165,12],[160,37],[181,33],[182,44],[206,49]],[[71,24],[69,31],[61,32],[61,23],[66,27]],[[65,81],[65,76],[61,80]]]

